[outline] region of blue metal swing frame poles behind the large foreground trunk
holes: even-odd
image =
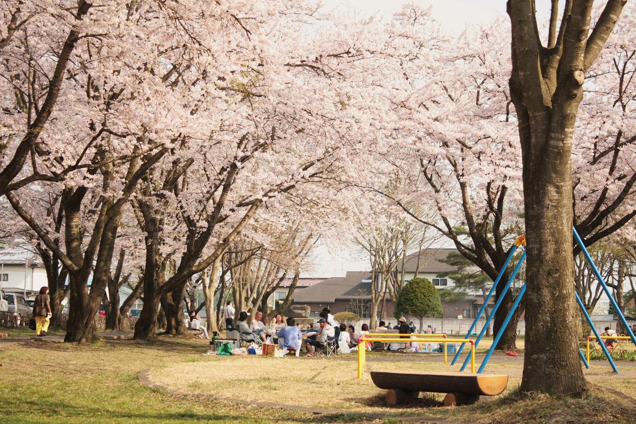
[[[621,322],[625,326],[626,331],[628,332],[628,335],[632,339],[632,343],[634,344],[634,346],[636,346],[636,338],[634,337],[632,329],[630,329],[629,325],[627,324],[627,321],[625,320],[625,316],[623,315],[621,310],[618,308],[618,304],[616,304],[616,301],[614,300],[614,297],[612,296],[611,292],[609,291],[609,288],[607,287],[607,284],[605,284],[605,280],[603,279],[602,275],[600,275],[600,272],[598,271],[598,268],[597,268],[596,264],[592,260],[592,258],[590,256],[590,253],[588,252],[588,250],[586,249],[585,245],[583,244],[583,241],[581,240],[581,237],[579,236],[579,234],[576,232],[576,229],[574,229],[574,228],[572,228],[572,233],[574,234],[574,239],[576,240],[576,243],[579,245],[579,247],[581,248],[581,251],[583,252],[583,255],[585,256],[585,259],[588,261],[588,263],[590,264],[595,276],[597,277],[598,282],[603,287],[603,290],[604,290],[605,294],[607,295],[607,297],[609,297],[609,301],[611,302],[612,306],[614,306],[614,310],[616,311],[619,319],[621,320]],[[525,245],[525,236],[523,236],[523,235],[519,236],[516,239],[515,244],[510,249],[510,253],[508,254],[508,258],[506,258],[506,262],[502,266],[501,271],[499,271],[499,275],[497,275],[497,278],[495,279],[495,282],[492,285],[492,288],[490,289],[490,292],[488,292],[488,295],[486,296],[486,299],[484,300],[483,305],[481,305],[481,308],[480,308],[479,312],[477,313],[477,316],[474,318],[473,324],[471,324],[470,328],[468,329],[468,332],[466,334],[466,338],[468,338],[471,334],[473,334],[473,331],[474,331],[475,327],[478,324],[478,320],[480,319],[480,317],[483,314],[485,308],[487,307],[488,301],[490,301],[490,297],[492,297],[492,295],[494,294],[495,290],[497,289],[497,285],[499,284],[502,275],[504,275],[504,272],[508,268],[508,265],[509,265],[510,261],[512,260],[513,256],[515,256],[516,250],[518,249],[518,247],[520,247],[522,245]],[[525,252],[525,249],[524,249],[522,256],[520,257],[518,263],[515,266],[515,270],[510,275],[510,278],[508,278],[508,281],[506,282],[506,285],[504,285],[504,289],[503,289],[502,292],[505,293],[505,292],[508,291],[511,283],[513,282],[513,280],[515,279],[517,273],[521,269],[523,261],[525,261],[525,254],[526,254],[526,252]],[[481,362],[481,366],[479,367],[479,369],[477,371],[478,374],[483,372],[483,370],[485,369],[486,365],[488,364],[488,360],[490,359],[492,353],[494,352],[495,346],[497,346],[497,343],[499,343],[499,340],[501,339],[501,336],[504,333],[504,330],[506,329],[506,327],[508,327],[508,324],[509,324],[510,320],[512,319],[517,307],[519,306],[519,303],[521,302],[521,300],[523,298],[523,294],[525,294],[525,290],[526,290],[526,284],[524,282],[522,287],[521,287],[520,292],[517,294],[517,296],[515,298],[513,306],[508,311],[508,315],[506,315],[506,319],[504,319],[504,322],[502,323],[499,331],[495,335],[495,338],[494,338],[494,340],[492,342],[492,345],[490,346],[490,349],[488,349],[488,352],[486,353],[486,357]],[[495,303],[495,306],[494,306],[492,312],[488,316],[485,324],[481,328],[481,331],[480,331],[479,335],[477,336],[477,339],[475,340],[475,348],[479,345],[481,339],[483,338],[484,334],[486,333],[488,325],[490,325],[490,322],[494,318],[495,313],[497,312],[497,309],[501,305],[503,298],[504,298],[503,296],[499,297],[499,299]],[[579,297],[579,295],[577,293],[576,293],[576,303],[579,305],[579,308],[581,308],[581,311],[583,312],[583,315],[585,316],[585,319],[587,320],[588,324],[590,324],[590,327],[591,327],[592,331],[594,332],[594,336],[597,338],[599,345],[603,348],[603,352],[605,353],[605,357],[607,357],[607,360],[609,361],[610,366],[614,370],[614,373],[619,374],[618,368],[616,367],[616,364],[614,363],[614,360],[612,360],[612,357],[611,357],[609,351],[607,350],[607,347],[605,346],[605,343],[603,343],[602,339],[600,338],[600,334],[598,334],[597,329],[594,327],[594,325],[592,323],[592,320],[590,318],[590,314],[588,314],[588,311],[585,309],[585,307],[583,305],[583,302],[581,301],[581,298]],[[455,357],[453,357],[451,365],[455,365],[455,362],[457,362],[457,359],[459,359],[459,355],[462,353],[462,350],[464,350],[464,346],[465,345],[466,345],[466,343],[462,343],[459,346],[459,349],[457,350],[457,353],[455,353]],[[583,352],[581,352],[580,349],[579,349],[579,355],[581,356],[581,360],[583,360],[583,364],[586,367],[589,368],[590,365],[585,360],[585,356],[583,355]],[[467,366],[467,364],[470,363],[470,360],[471,360],[471,353],[468,353],[468,355],[466,357],[466,360],[464,360],[464,364],[462,364],[462,367],[460,368],[460,371],[464,371],[464,369],[466,369],[466,366]]]

